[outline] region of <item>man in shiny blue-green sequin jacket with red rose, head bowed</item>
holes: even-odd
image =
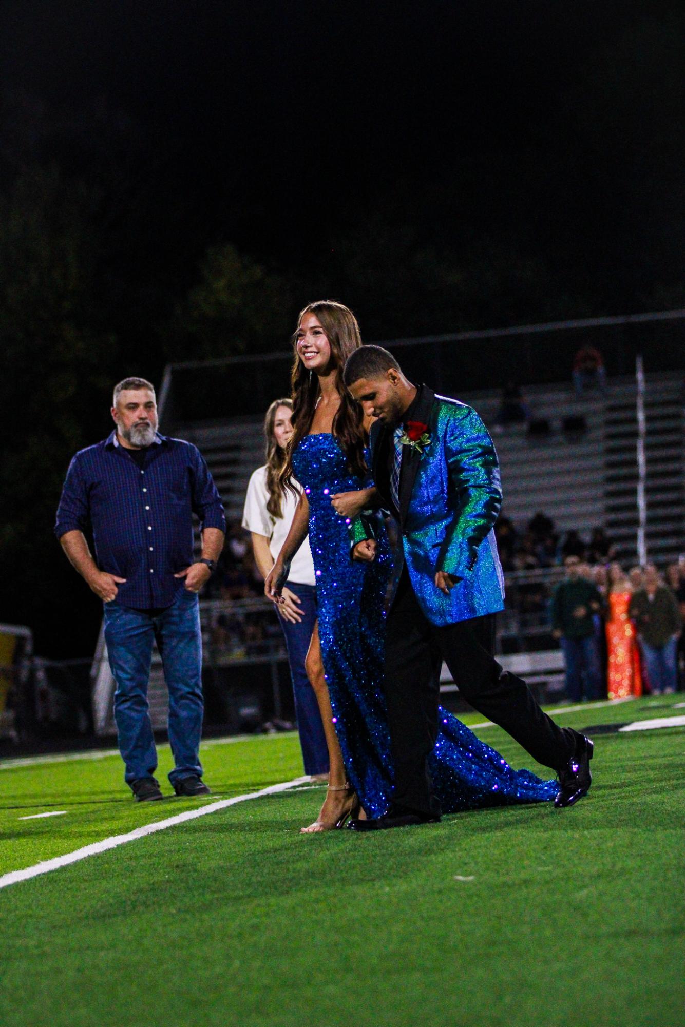
[[[470,407],[412,385],[379,346],[352,353],[345,384],[365,413],[377,417],[371,428],[376,505],[389,511],[402,538],[385,657],[393,805],[385,816],[354,821],[353,828],[440,817],[428,760],[437,737],[443,660],[475,710],[559,773],[556,805],[572,805],[589,788],[592,741],[555,724],[525,681],[493,655],[495,614],[504,605],[493,531],[502,493],[487,428]],[[352,519],[354,559],[373,559],[373,517]]]

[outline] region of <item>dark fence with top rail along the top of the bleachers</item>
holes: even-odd
[[[580,346],[597,346],[611,376],[634,375],[638,353],[645,370],[682,369],[685,310],[616,317],[586,317],[483,331],[385,339],[403,370],[442,392],[500,388],[508,381],[527,386],[571,377]],[[166,430],[189,422],[262,415],[289,390],[292,350],[274,339],[273,350],[168,365],[159,390],[160,420]]]

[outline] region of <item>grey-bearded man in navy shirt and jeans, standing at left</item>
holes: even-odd
[[[114,390],[116,429],[81,450],[65,481],[55,534],[105,604],[105,640],[117,683],[114,712],[125,779],[139,800],[160,799],[147,689],[156,639],[169,692],[177,794],[203,795],[201,640],[197,593],[221,553],[226,521],[207,466],[190,443],[157,433],[154,388],[127,378]],[[192,515],[202,556],[193,559]],[[90,529],[96,559],[84,532]]]

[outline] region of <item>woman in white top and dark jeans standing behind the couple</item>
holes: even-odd
[[[262,577],[273,567],[275,558],[291,529],[297,499],[283,491],[278,482],[283,465],[286,446],[293,434],[291,400],[274,400],[264,418],[266,464],[258,467],[250,479],[242,527],[252,534],[255,563]],[[304,771],[314,777],[328,777],[329,751],[321,715],[312,683],[307,676],[305,660],[316,623],[316,585],[314,565],[305,539],[293,558],[288,583],[283,587],[284,603],[277,607],[286,636],[288,659],[293,678],[295,713],[297,716]],[[315,669],[310,673],[320,674]],[[314,686],[319,684],[314,680]],[[320,686],[326,689],[326,681]]]

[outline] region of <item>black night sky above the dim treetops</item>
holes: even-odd
[[[2,76],[72,119],[72,174],[119,162],[172,288],[228,239],[336,291],[335,240],[378,221],[534,255],[564,312],[619,312],[682,255],[679,7],[25,0]]]

